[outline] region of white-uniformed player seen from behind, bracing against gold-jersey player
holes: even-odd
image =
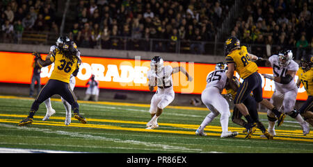
[[[222,91],[227,85],[227,76],[225,72],[226,64],[218,62],[215,71],[211,71],[207,75],[207,86],[202,91],[201,99],[204,105],[211,111],[202,121],[196,135],[207,136],[204,133],[204,128],[220,114],[220,125],[222,126],[222,134],[220,137],[236,137],[238,132],[228,131],[228,120],[230,118],[230,106],[227,100],[222,96]]]

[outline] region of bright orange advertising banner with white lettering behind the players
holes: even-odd
[[[47,54],[41,54],[45,59]],[[0,82],[31,84],[33,73],[31,53],[0,52]],[[150,69],[150,60],[120,58],[95,58],[81,56],[82,64],[76,77],[75,87],[86,87],[86,82],[92,74],[99,80],[102,89],[122,89],[135,91],[149,91],[147,87],[147,71]],[[175,73],[173,78],[174,91],[180,94],[201,94],[207,85],[207,74],[215,69],[215,64],[193,62],[164,62],[171,67],[184,67],[193,77],[188,82],[183,73]],[[42,85],[49,80],[54,64],[43,67],[40,73]],[[268,67],[259,67],[259,73],[273,74]],[[237,76],[238,77],[238,76]],[[295,78],[298,79],[298,76]],[[271,98],[275,90],[273,80],[262,76],[263,97]],[[225,92],[225,91],[224,91]],[[298,89],[297,100],[306,100],[307,94],[303,87]]]

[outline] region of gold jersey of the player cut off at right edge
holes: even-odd
[[[307,91],[307,96],[313,96],[313,69],[310,69],[305,73],[303,73],[303,69],[299,69],[298,77]]]

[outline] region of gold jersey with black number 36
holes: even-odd
[[[71,74],[76,69],[79,69],[78,59],[74,59],[74,62],[71,62],[70,59],[63,57],[58,52],[58,49],[55,49],[51,55],[50,60],[54,62],[54,71],[52,71],[50,79],[69,83]]]

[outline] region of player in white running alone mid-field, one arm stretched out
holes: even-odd
[[[150,70],[147,71],[147,78],[149,79],[149,89],[154,90],[158,87],[156,93],[152,96],[150,104],[151,120],[147,123],[147,130],[158,128],[157,120],[162,114],[163,109],[172,103],[175,98],[175,92],[172,85],[172,74],[182,71],[192,81],[193,78],[186,72],[184,67],[170,67],[163,66],[163,59],[160,56],[154,56],[150,62]]]

